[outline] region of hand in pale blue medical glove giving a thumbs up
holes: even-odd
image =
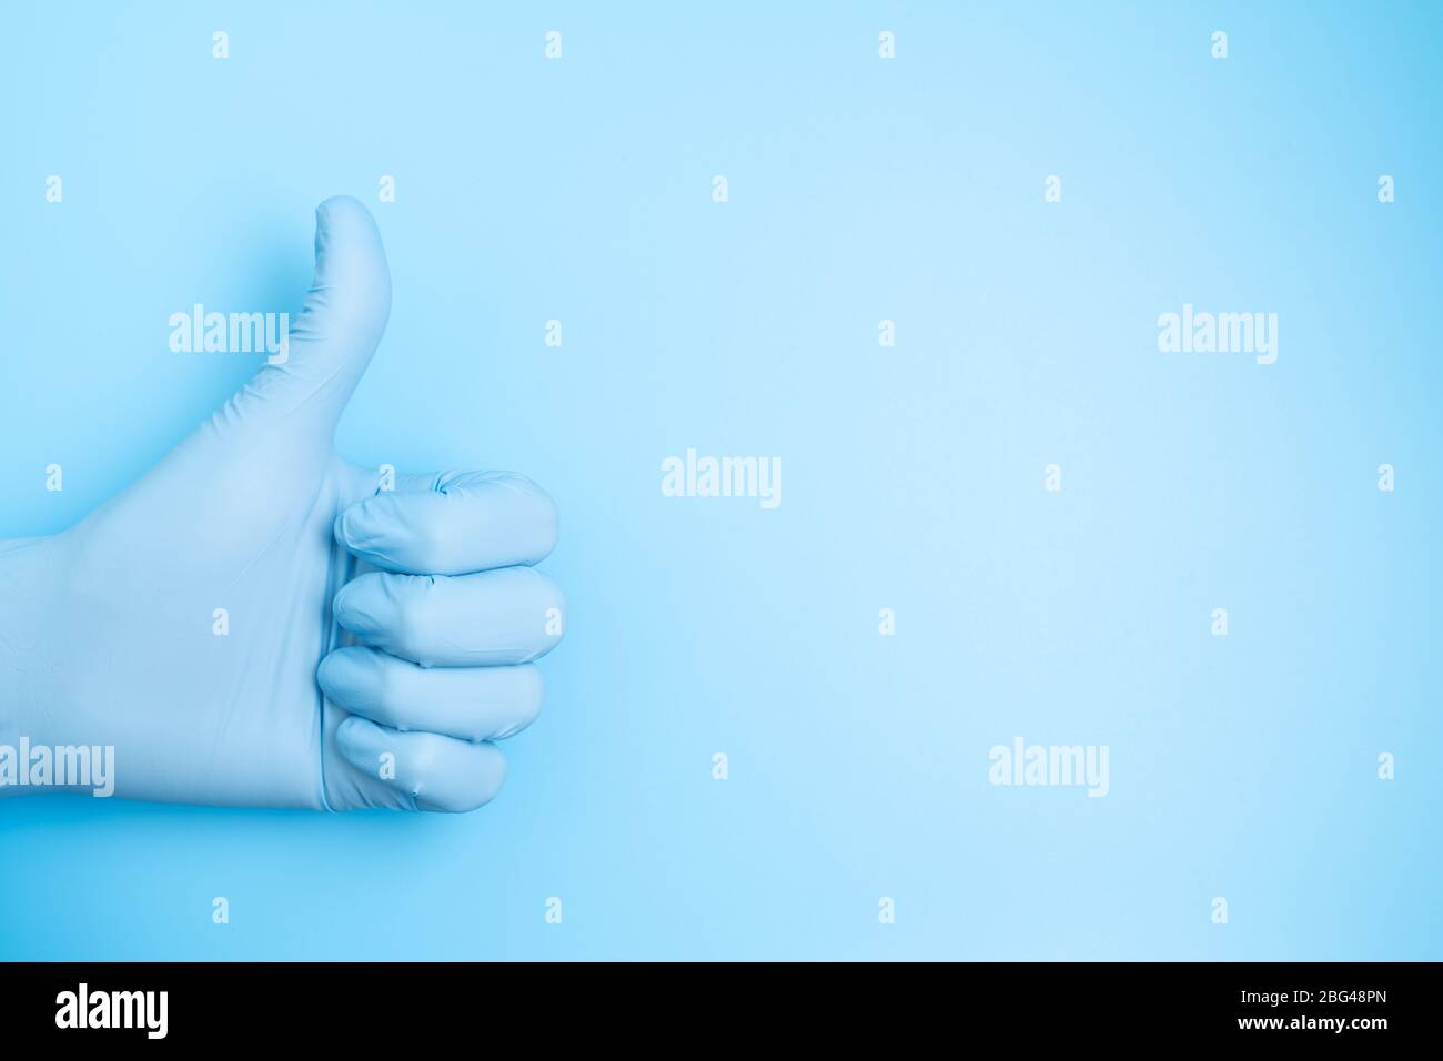
[[[560,638],[561,595],[531,567],[557,512],[517,475],[391,491],[335,453],[390,309],[375,222],[328,199],[289,358],[82,523],[0,543],[0,751],[114,746],[136,800],[463,811],[496,794],[492,742],[535,717],[530,661]]]

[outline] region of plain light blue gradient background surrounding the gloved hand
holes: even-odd
[[[338,447],[535,478],[570,603],[491,807],[10,800],[0,957],[1443,957],[1443,9],[596,7],[0,16],[0,534],[241,384],[167,316],[294,312],[352,193]],[[1277,364],[1159,354],[1183,302]],[[688,446],[781,508],[662,497]],[[1110,795],[991,787],[1019,735]]]

